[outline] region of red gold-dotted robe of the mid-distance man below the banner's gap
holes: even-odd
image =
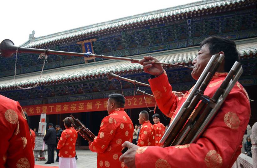
[[[119,161],[121,150],[126,140],[133,139],[133,123],[124,108],[115,109],[106,116],[100,125],[98,135],[89,144],[89,149],[97,152],[97,167],[126,167]]]

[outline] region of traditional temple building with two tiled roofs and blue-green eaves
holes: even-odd
[[[68,51],[91,52],[99,55],[141,59],[152,55],[161,62],[192,66],[203,39],[218,35],[234,40],[240,54],[244,72],[239,82],[244,86],[251,101],[249,125],[257,121],[257,24],[256,0],[203,0],[172,8],[142,13],[64,32],[34,37],[33,32],[22,47]],[[15,43],[15,41],[14,41]],[[101,120],[107,115],[108,95],[122,93],[126,99],[125,110],[134,124],[142,110],[153,110],[155,99],[135,94],[137,88],[152,94],[146,86],[108,80],[114,74],[148,83],[140,64],[116,59],[48,55],[40,78],[43,59],[39,54],[18,53],[16,83],[14,82],[15,54],[0,56],[0,94],[19,101],[29,115],[32,129],[38,128],[40,114],[46,113],[46,122],[64,128],[62,120],[74,115],[95,135]],[[174,91],[188,91],[195,80],[186,68],[164,67]],[[40,78],[40,80],[39,80]],[[161,116],[168,125],[169,119]],[[153,112],[150,113],[150,116]],[[150,117],[151,118],[151,117]],[[81,137],[78,146],[88,143]]]

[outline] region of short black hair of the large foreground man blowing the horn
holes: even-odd
[[[225,72],[229,72],[235,61],[239,61],[239,54],[236,50],[236,43],[232,40],[229,40],[228,38],[211,36],[205,38],[201,42],[200,47],[202,48],[204,44],[208,44],[211,55],[217,54],[220,51],[224,52]]]

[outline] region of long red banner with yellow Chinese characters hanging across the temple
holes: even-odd
[[[133,96],[127,96],[126,99],[132,99]],[[105,99],[93,99],[93,100],[81,100],[64,103],[53,104],[38,104],[22,106],[23,111],[26,111],[28,115],[40,115],[41,113],[49,114],[64,114],[64,113],[79,113],[79,112],[91,112],[91,111],[105,111],[107,110],[107,100]],[[126,100],[125,109],[135,109],[155,106],[155,99],[153,97],[146,96],[144,100],[143,95],[136,95],[132,100]]]

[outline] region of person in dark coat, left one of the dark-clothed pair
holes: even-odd
[[[44,136],[45,144],[47,145],[47,162],[45,164],[54,163],[54,148],[56,145],[56,130],[54,129],[53,123],[48,124],[48,130]]]

